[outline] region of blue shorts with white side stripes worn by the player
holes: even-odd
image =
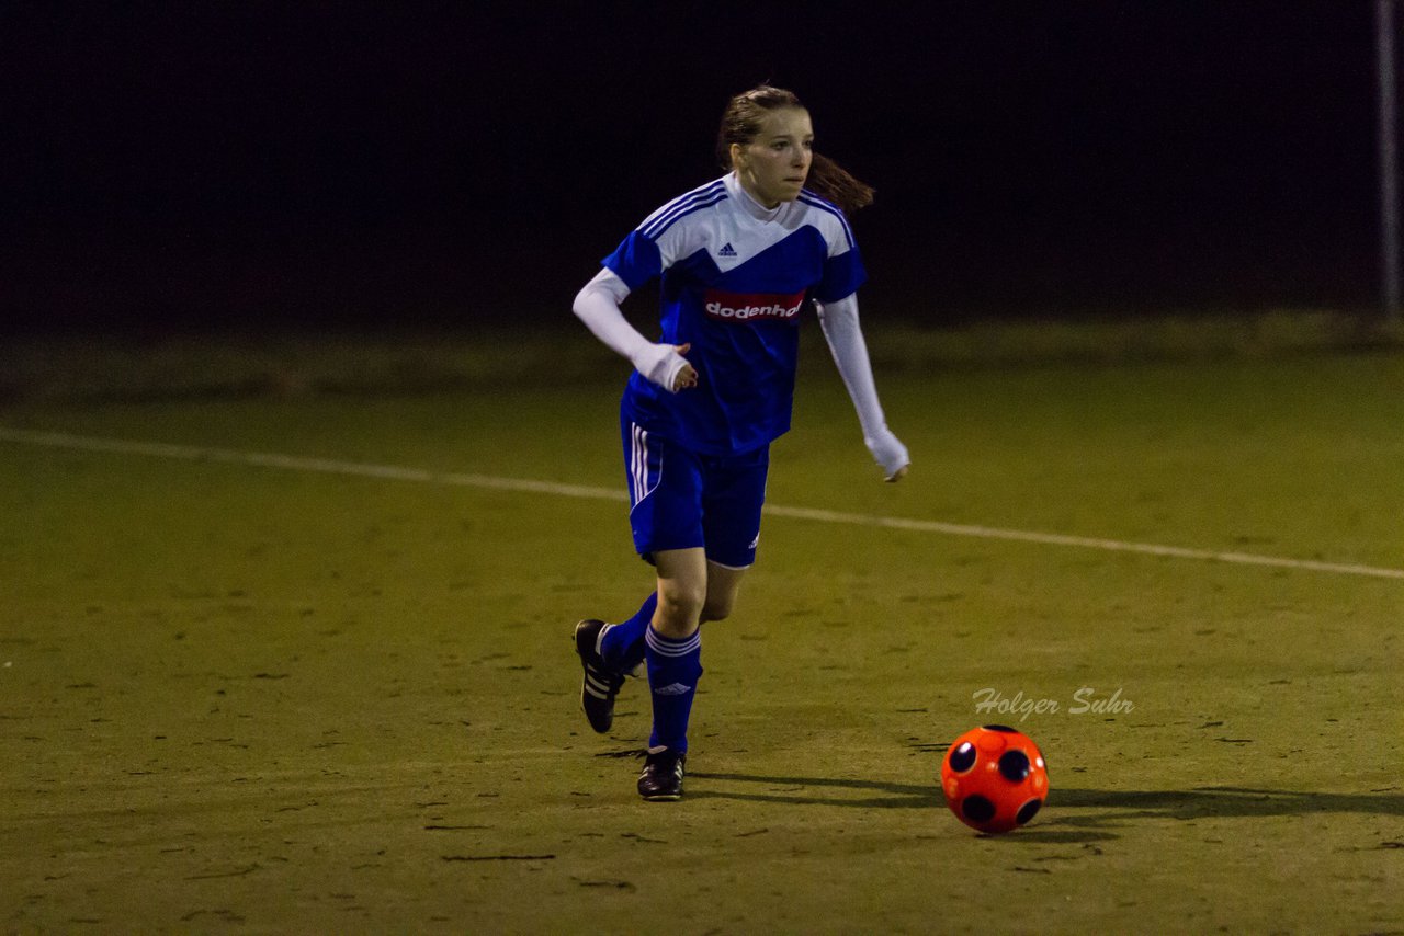
[[[755,563],[771,449],[698,455],[621,415],[633,547],[646,560],[664,549],[706,549],[727,568]]]

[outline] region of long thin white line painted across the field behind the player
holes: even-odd
[[[166,442],[133,442],[128,439],[105,439],[67,432],[37,432],[0,427],[0,442],[34,445],[80,452],[105,452],[112,455],[145,455],[187,462],[222,462],[253,467],[281,469],[286,472],[319,472],[323,474],[344,474],[354,477],[385,479],[392,481],[416,481],[420,484],[444,484],[455,487],[493,488],[500,491],[522,491],[532,494],[553,494],[601,501],[626,501],[621,490],[590,487],[584,484],[557,484],[555,481],[534,481],[528,479],[491,477],[487,474],[459,474],[427,472],[424,469],[396,464],[372,464],[366,462],[343,462],[337,459],[316,459],[298,455],[277,455],[268,452],[244,452],[239,449],[204,448],[194,445],[171,445]],[[1188,549],[1184,546],[1160,546],[1155,543],[1130,543],[1116,539],[1092,536],[1066,536],[1061,533],[1039,533],[1032,530],[1001,529],[995,526],[973,526],[967,523],[942,523],[941,521],[920,521],[901,516],[879,516],[873,514],[845,514],[807,507],[783,507],[767,504],[771,516],[814,521],[819,523],[840,523],[848,526],[876,526],[886,529],[915,530],[920,533],[942,533],[946,536],[970,536],[976,539],[1014,540],[1039,543],[1042,546],[1071,546],[1078,549],[1099,549],[1115,553],[1139,553],[1143,556],[1164,556],[1171,559],[1192,559],[1240,566],[1266,566],[1272,568],[1293,568],[1335,575],[1365,575],[1370,578],[1394,578],[1404,581],[1404,568],[1382,568],[1376,566],[1353,566],[1349,563],[1323,563],[1306,559],[1282,559],[1278,556],[1257,556],[1252,553],[1221,553],[1209,549]]]

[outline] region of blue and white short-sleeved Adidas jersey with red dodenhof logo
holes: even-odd
[[[806,296],[835,302],[866,279],[844,213],[804,189],[765,209],[736,174],[675,198],[605,257],[630,290],[661,276],[665,344],[691,344],[698,385],[668,393],[635,372],[623,413],[705,455],[785,434]]]

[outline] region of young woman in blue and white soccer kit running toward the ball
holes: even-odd
[[[769,443],[790,425],[799,323],[813,300],[863,442],[889,481],[907,472],[858,326],[863,265],[848,227],[872,189],[813,152],[809,111],[782,88],[731,98],[722,178],[675,198],[605,257],[574,312],[635,366],[619,408],[635,549],[657,588],[621,624],[583,620],[581,707],[605,733],[625,674],[646,664],[653,733],[644,800],[677,800],[702,675],[699,624],[731,613],[755,561]],[[809,182],[809,188],[806,188]],[[661,276],[663,341],[619,303]]]

